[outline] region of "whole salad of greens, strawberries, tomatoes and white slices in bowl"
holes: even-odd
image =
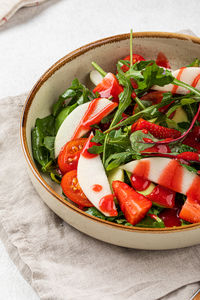
[[[116,73],[97,63],[90,91],[74,79],[37,119],[41,170],[86,213],[164,228],[200,222],[200,60],[172,70],[164,53],[132,52]]]

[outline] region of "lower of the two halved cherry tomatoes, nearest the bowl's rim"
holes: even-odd
[[[83,193],[77,179],[77,171],[72,170],[66,173],[61,180],[63,193],[74,203],[82,207],[91,207],[93,204]]]

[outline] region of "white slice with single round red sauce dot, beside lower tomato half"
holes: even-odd
[[[111,196],[114,199],[100,156],[87,158],[83,153],[84,149],[80,155],[77,168],[77,178],[83,193],[105,216],[116,216],[117,211],[114,200],[111,201],[111,208],[115,211],[115,214],[103,211],[100,206],[100,202],[104,197]]]

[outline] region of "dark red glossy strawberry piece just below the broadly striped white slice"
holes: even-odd
[[[146,197],[159,206],[172,208],[175,205],[175,196],[176,193],[174,191],[157,185]]]

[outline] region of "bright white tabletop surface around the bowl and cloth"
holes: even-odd
[[[21,9],[0,28],[0,98],[30,90],[50,65],[79,46],[130,28],[190,28],[200,35],[199,11],[199,0],[49,0]],[[0,299],[38,299],[1,242]]]

